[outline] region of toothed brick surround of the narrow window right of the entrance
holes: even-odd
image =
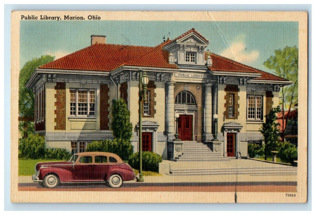
[[[225,99],[225,119],[238,119],[239,118],[239,87],[237,85],[226,85],[224,91],[226,95],[224,96]],[[234,117],[229,117],[229,98],[230,94],[234,94]]]

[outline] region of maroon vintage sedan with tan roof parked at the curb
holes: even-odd
[[[75,182],[106,182],[119,188],[123,181],[136,178],[133,168],[107,152],[83,152],[73,154],[69,161],[37,163],[35,172],[32,180],[47,188]]]

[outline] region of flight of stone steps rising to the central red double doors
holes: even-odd
[[[196,141],[184,141],[183,142],[183,153],[174,159],[173,161],[225,161],[230,160],[229,158],[223,157],[221,153],[213,153],[211,149],[203,144],[197,143]]]

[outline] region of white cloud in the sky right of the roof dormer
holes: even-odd
[[[253,62],[258,59],[258,50],[248,52],[246,49],[245,42],[233,42],[229,45],[229,49],[224,49],[220,55],[241,63]]]

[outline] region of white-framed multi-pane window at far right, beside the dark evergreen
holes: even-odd
[[[261,95],[247,96],[247,119],[262,120],[263,119],[263,97]]]

